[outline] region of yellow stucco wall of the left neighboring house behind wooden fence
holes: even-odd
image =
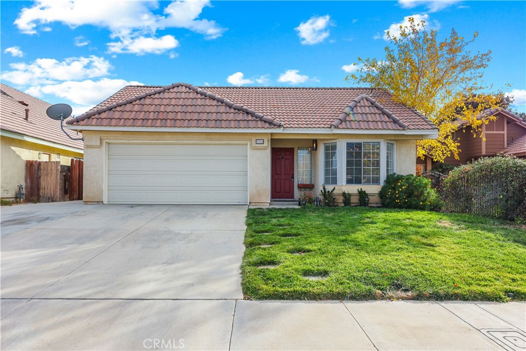
[[[45,155],[38,158],[39,153],[50,154],[51,159],[49,161],[60,161],[61,165],[68,166],[72,158],[83,158],[81,153],[6,136],[0,138],[0,149],[2,198],[16,198],[18,184],[24,184],[25,162],[27,160],[48,161]],[[57,159],[57,153],[60,154],[60,159]]]

